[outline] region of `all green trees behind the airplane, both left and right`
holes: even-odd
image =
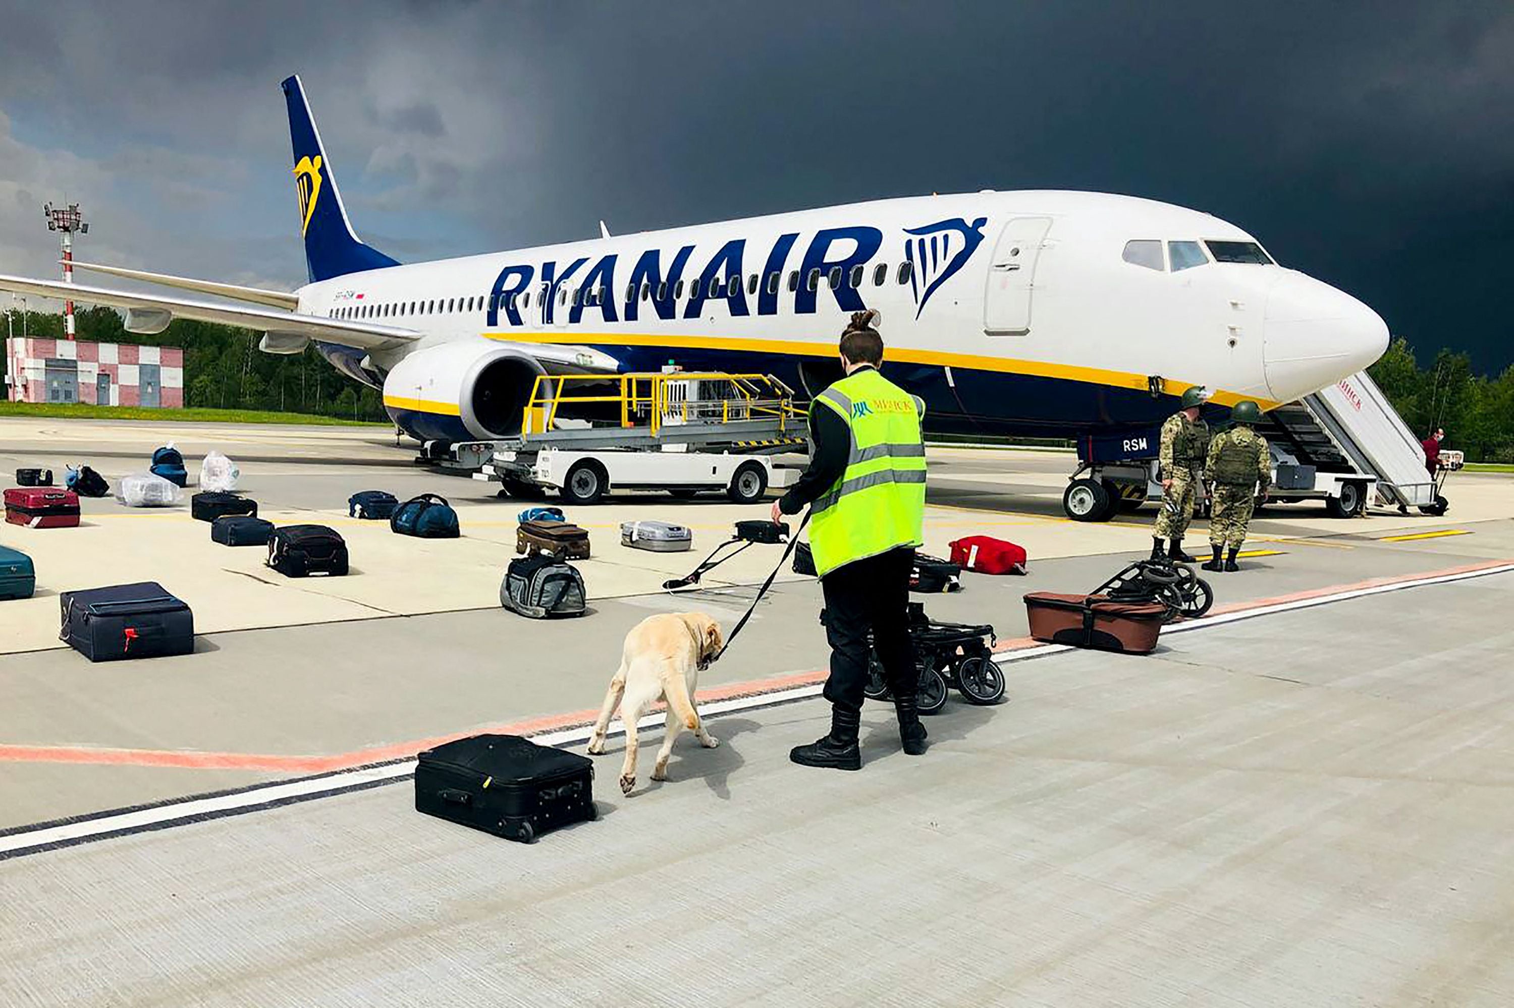
[[[8,331],[61,338],[62,315],[6,313]],[[127,333],[114,309],[74,313],[79,339],[183,347],[185,406],[227,410],[280,410],[348,419],[383,421],[375,389],[333,369],[313,350],[276,356],[257,350],[259,333],[232,325],[174,319],[156,336]],[[9,362],[8,362],[9,366]],[[1497,377],[1473,374],[1464,353],[1441,350],[1420,366],[1405,339],[1396,339],[1367,369],[1417,437],[1446,428],[1446,446],[1470,462],[1514,462],[1514,366]]]

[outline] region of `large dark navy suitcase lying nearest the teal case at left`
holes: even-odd
[[[194,613],[156,581],[59,595],[58,639],[91,661],[194,651]]]

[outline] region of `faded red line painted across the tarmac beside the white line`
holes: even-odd
[[[1213,611],[1214,614],[1237,613],[1254,608],[1264,608],[1267,605],[1301,602],[1305,599],[1320,598],[1325,595],[1335,595],[1340,592],[1355,592],[1361,589],[1381,587],[1385,584],[1413,584],[1416,581],[1443,578],[1456,574],[1472,574],[1476,571],[1487,571],[1508,563],[1514,563],[1514,558],[1467,563],[1456,568],[1428,571],[1410,577],[1369,578],[1366,581],[1355,581],[1352,584],[1334,584],[1329,587],[1291,592],[1288,595],[1276,595],[1272,598],[1254,599],[1249,602],[1219,605]],[[1001,640],[993,649],[995,652],[1020,651],[1025,648],[1039,646],[1039,643],[1040,642],[1033,640],[1030,637],[1014,637],[1010,640]],[[813,686],[816,683],[824,683],[825,677],[827,677],[825,672],[796,672],[792,675],[778,675],[765,680],[733,683],[728,686],[718,686],[709,690],[701,690],[695,696],[695,699],[698,702],[715,702],[724,699],[734,699],[737,696],[762,696],[765,693],[780,693],[783,690],[790,690],[799,686]],[[401,760],[413,757],[416,752],[421,752],[422,749],[430,749],[431,746],[439,746],[444,742],[453,742],[454,739],[466,739],[468,736],[478,734],[481,731],[512,734],[512,736],[530,736],[545,731],[562,731],[565,728],[575,728],[578,725],[592,723],[593,719],[598,716],[598,713],[600,713],[598,710],[580,710],[566,714],[548,714],[544,717],[531,717],[527,720],[515,720],[500,725],[484,725],[481,728],[454,731],[445,736],[435,736],[431,739],[413,739],[409,742],[395,742],[385,746],[356,749],[353,752],[338,752],[333,755],[273,755],[273,754],[256,754],[256,752],[191,752],[179,749],[109,749],[109,748],[92,748],[92,746],[23,746],[23,745],[0,743],[0,763],[74,763],[74,764],[91,764],[91,766],[171,767],[171,769],[186,769],[186,770],[251,770],[251,772],[263,770],[276,773],[283,773],[283,772],[330,773],[333,770],[347,770],[356,766],[366,766],[371,763],[383,763],[386,760]]]

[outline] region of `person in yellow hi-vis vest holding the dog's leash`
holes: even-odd
[[[831,731],[795,748],[789,758],[839,770],[861,769],[857,730],[869,631],[893,693],[904,751],[925,752],[908,636],[910,569],[925,524],[924,404],[878,374],[883,338],[877,319],[877,312],[857,312],[842,333],[846,377],[810,404],[810,465],[772,506],[774,521],[810,506],[810,549],[831,645],[825,680]]]

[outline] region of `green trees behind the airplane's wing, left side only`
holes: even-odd
[[[56,312],[6,312],[6,334],[61,339],[64,316]],[[233,325],[176,318],[154,336],[126,331],[121,315],[109,307],[77,309],[74,333],[103,344],[182,347],[185,351],[185,406],[221,410],[279,410],[318,413],[354,421],[385,421],[375,389],[348,378],[313,347],[300,354],[265,354],[262,333]],[[6,362],[9,368],[9,360]]]

